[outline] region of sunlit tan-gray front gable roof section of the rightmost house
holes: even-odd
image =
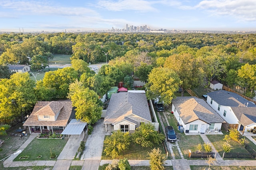
[[[256,123],[256,108],[255,107],[231,107],[238,121],[247,126]]]

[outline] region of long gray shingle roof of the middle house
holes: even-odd
[[[152,122],[148,101],[144,93],[114,93],[111,96],[104,123],[117,123],[136,115]]]

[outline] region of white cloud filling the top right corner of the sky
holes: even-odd
[[[256,0],[203,0],[196,8],[212,16],[231,16],[239,21],[256,21]]]

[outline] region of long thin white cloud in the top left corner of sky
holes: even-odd
[[[2,8],[9,8],[22,13],[39,15],[61,15],[80,16],[84,14],[97,15],[94,10],[83,7],[62,7],[56,4],[49,4],[46,1],[35,0],[1,0]],[[21,13],[21,14],[22,14]]]

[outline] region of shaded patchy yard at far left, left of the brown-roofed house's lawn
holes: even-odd
[[[7,136],[0,136],[0,139],[4,140],[4,143],[0,147],[0,160],[16,152],[18,148],[20,148],[20,146],[28,139],[29,134],[28,136],[24,136],[23,140],[20,140],[20,137],[19,137],[20,133],[18,133],[17,136],[10,136],[10,132],[17,133],[15,132],[15,130],[18,129],[19,127],[22,127],[22,123],[18,123],[16,126],[8,129],[6,131]],[[26,131],[28,132],[28,130]]]

